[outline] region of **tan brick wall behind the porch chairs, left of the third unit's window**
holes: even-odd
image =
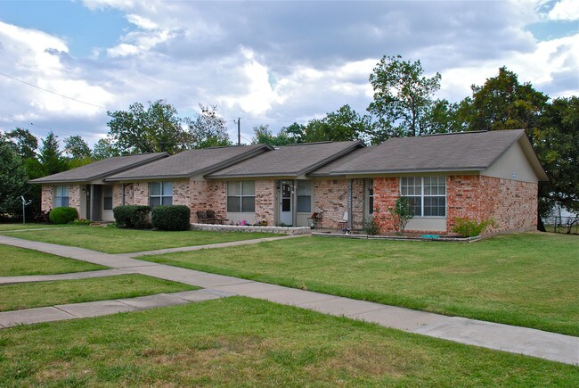
[[[196,211],[215,211],[224,217],[226,209],[226,183],[223,181],[200,181],[189,182],[189,203],[191,207],[191,220],[197,221]]]

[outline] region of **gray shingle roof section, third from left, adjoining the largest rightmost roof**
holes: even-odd
[[[220,169],[208,177],[297,177],[359,147],[363,144],[358,141],[285,145]]]

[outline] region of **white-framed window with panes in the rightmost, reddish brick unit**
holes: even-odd
[[[402,177],[400,178],[400,194],[408,197],[414,216],[446,216],[444,177]]]

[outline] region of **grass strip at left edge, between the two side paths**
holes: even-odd
[[[155,293],[178,293],[195,289],[197,287],[143,275],[0,285],[0,311],[83,301],[134,298]]]

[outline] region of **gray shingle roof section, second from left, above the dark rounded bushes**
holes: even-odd
[[[161,179],[170,177],[192,177],[223,169],[233,163],[264,153],[271,148],[265,144],[214,147],[183,151],[166,159],[155,161],[136,169],[130,169],[107,177],[106,181],[131,179]]]

